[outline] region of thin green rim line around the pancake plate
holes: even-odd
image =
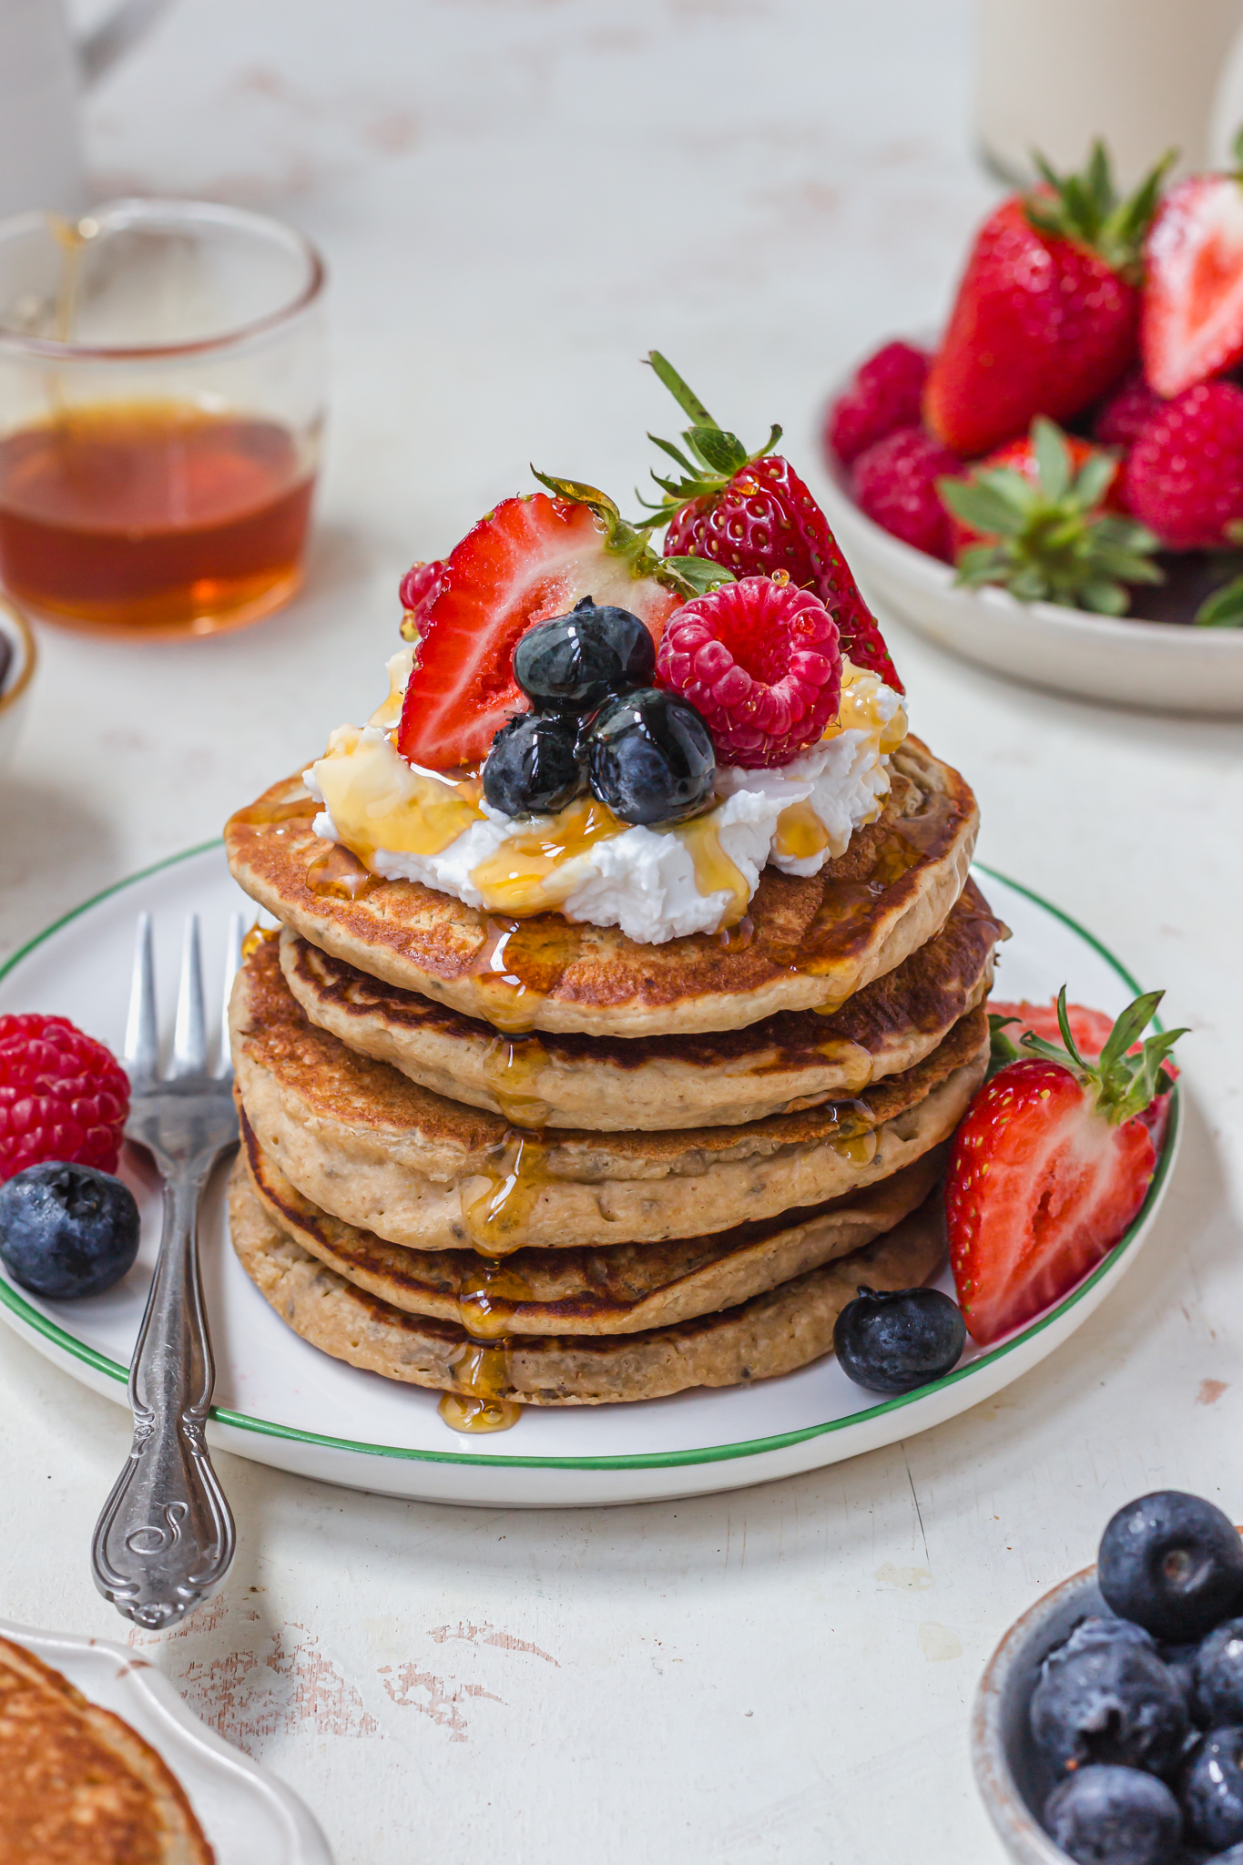
[[[50,927],[45,927],[43,932],[35,932],[32,940],[26,940],[26,944],[20,946],[13,953],[13,957],[0,966],[0,983],[4,983],[9,972],[13,972],[15,966],[20,964],[20,960],[28,953],[32,953],[37,946],[48,940],[54,932],[60,932],[61,927],[71,925],[75,919],[80,919],[82,914],[88,914],[93,906],[99,906],[101,901],[110,899],[114,893],[125,891],[125,888],[132,888],[140,880],[147,880],[151,875],[158,875],[166,867],[175,867],[179,862],[188,862],[196,854],[207,854],[212,849],[220,847],[224,847],[222,841],[205,841],[199,843],[196,849],[183,849],[181,854],[171,854],[164,862],[153,862],[151,867],[143,867],[140,873],[129,875],[125,880],[117,880],[114,886],[104,888],[102,893],[97,893],[93,899],[84,901],[80,906],[75,906],[73,912],[63,914]],[[1025,888],[1021,882],[1010,880],[1006,875],[1001,875],[995,867],[984,867],[978,862],[975,865],[978,873],[988,875],[991,880],[1001,880],[1003,886],[1014,888],[1016,893],[1025,895],[1025,899],[1032,901],[1044,912],[1053,914],[1055,919],[1060,919],[1062,925],[1070,927],[1070,931],[1075,932],[1085,942],[1085,946],[1090,946],[1092,951],[1100,953],[1100,957],[1109,964],[1113,972],[1116,972],[1116,975],[1122,979],[1122,983],[1133,996],[1139,996],[1141,987],[1131,977],[1127,968],[1118,959],[1114,959],[1114,955],[1109,951],[1107,946],[1101,946],[1101,942],[1092,932],[1081,927],[1077,919],[1072,919],[1070,914],[1064,914],[1060,906],[1051,906],[1049,901],[1042,899],[1040,893],[1032,893],[1032,890]],[[1159,1022],[1157,1028],[1161,1028]],[[1139,1216],[1124,1233],[1124,1236],[1114,1244],[1109,1255],[1103,1257],[1096,1264],[1092,1274],[1086,1276],[1075,1289],[1072,1289],[1072,1292],[1062,1302],[1059,1302],[1057,1307],[1051,1307],[1047,1315],[1040,1317],[1040,1320],[1034,1320],[1029,1328],[1023,1328],[1023,1332],[1016,1333],[1014,1339],[1004,1341],[1001,1347],[991,1348],[991,1352],[988,1354],[980,1354],[978,1360],[973,1360],[965,1367],[958,1367],[956,1373],[947,1373],[943,1380],[934,1380],[930,1386],[919,1386],[915,1391],[904,1393],[900,1399],[887,1399],[883,1404],[865,1406],[861,1412],[850,1412],[846,1417],[827,1419],[824,1425],[803,1425],[801,1430],[786,1430],[777,1434],[775,1438],[745,1438],[738,1444],[712,1444],[695,1451],[643,1451],[630,1457],[490,1457],[486,1451],[479,1453],[416,1451],[399,1444],[360,1444],[352,1438],[326,1438],[315,1430],[298,1430],[293,1425],[276,1425],[272,1419],[250,1417],[246,1412],[231,1412],[227,1406],[212,1406],[211,1417],[218,1425],[231,1425],[235,1430],[253,1430],[266,1438],[285,1438],[294,1444],[313,1444],[330,1451],[354,1451],[362,1453],[363,1457],[399,1457],[410,1462],[423,1462],[423,1464],[471,1464],[471,1466],[499,1464],[507,1470],[673,1470],[682,1464],[719,1464],[738,1457],[760,1457],[766,1451],[785,1451],[790,1445],[807,1444],[809,1438],[824,1438],[831,1430],[842,1430],[850,1425],[863,1425],[865,1421],[874,1417],[885,1417],[891,1412],[902,1412],[906,1406],[915,1404],[919,1399],[928,1399],[932,1393],[945,1391],[950,1386],[958,1386],[962,1380],[973,1378],[973,1375],[980,1373],[984,1367],[993,1365],[997,1360],[1004,1360],[1004,1356],[1012,1354],[1016,1347],[1023,1347],[1034,1335],[1044,1333],[1045,1328],[1051,1328],[1055,1320],[1060,1320],[1060,1317],[1066,1315],[1072,1307],[1075,1307],[1077,1302],[1083,1302],[1083,1298],[1131,1248],[1135,1236],[1144,1225],[1144,1220],[1148,1218],[1148,1212],[1161,1195],[1161,1190],[1168,1177],[1170,1160],[1174,1158],[1174,1140],[1178,1138],[1178,1123],[1180,1123],[1180,1095],[1178,1095],[1178,1085],[1174,1085],[1174,1093],[1170,1097],[1170,1117],[1165,1134],[1165,1145],[1161,1149],[1161,1158],[1157,1160],[1157,1169],[1152,1175],[1152,1184],[1148,1186],[1148,1197],[1144,1199]],[[73,1360],[80,1360],[95,1373],[102,1373],[108,1378],[117,1380],[121,1386],[129,1382],[127,1367],[119,1365],[116,1360],[108,1360],[106,1354],[97,1352],[93,1347],[86,1347],[82,1341],[76,1341],[71,1333],[65,1333],[63,1328],[60,1328],[54,1320],[48,1320],[47,1315],[41,1315],[37,1307],[32,1307],[30,1302],[26,1302],[24,1296],[20,1296],[17,1289],[13,1289],[13,1285],[4,1281],[2,1278],[0,1278],[0,1302],[13,1315],[17,1315],[17,1319],[22,1320],[28,1328],[32,1328],[35,1333],[41,1333],[47,1341],[50,1341],[61,1352],[69,1354]]]

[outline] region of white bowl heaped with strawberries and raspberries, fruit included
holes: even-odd
[[[980,228],[939,341],[829,399],[824,509],[870,597],[999,673],[1243,714],[1239,170],[1120,198],[1105,149]]]

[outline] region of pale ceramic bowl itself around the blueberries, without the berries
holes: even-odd
[[[1018,1865],[1068,1865],[1040,1826],[1040,1809],[1055,1775],[1040,1757],[1027,1723],[1027,1706],[1040,1665],[1073,1626],[1092,1613],[1109,1615],[1096,1587],[1096,1568],[1085,1567],[1014,1621],[988,1660],[971,1712],[975,1785]]]

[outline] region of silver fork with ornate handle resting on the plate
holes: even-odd
[[[224,994],[240,962],[242,921],[229,923]],[[129,1375],[134,1442],[95,1524],[91,1572],[106,1600],[140,1626],[171,1626],[209,1598],[233,1561],[233,1516],[203,1427],[214,1365],[199,1279],[198,1214],[216,1160],[237,1145],[233,1069],[222,1024],[220,1069],[207,1069],[199,918],[186,919],[173,1065],[158,1069],[151,914],[138,919],[125,1026],[130,1078],[127,1140],[164,1181],[164,1235]]]

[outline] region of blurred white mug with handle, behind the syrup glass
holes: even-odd
[[[0,0],[0,220],[32,207],[82,213],[82,90],[166,6],[121,0],[99,26],[75,37],[65,0]]]

